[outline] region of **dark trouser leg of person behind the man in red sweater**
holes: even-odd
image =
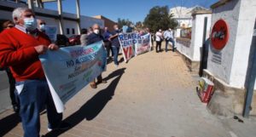
[[[15,77],[9,68],[6,69],[7,76],[9,78],[9,96],[13,106],[19,106],[19,100],[15,96]]]

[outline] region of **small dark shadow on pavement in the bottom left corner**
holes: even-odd
[[[13,113],[8,117],[4,117],[0,120],[0,136],[9,133],[9,131],[17,126],[20,123],[20,117],[18,114]]]

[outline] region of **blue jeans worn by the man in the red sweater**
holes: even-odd
[[[40,111],[46,106],[48,127],[56,128],[62,119],[57,113],[46,80],[17,82],[15,94],[20,99],[20,117],[24,137],[38,137],[40,132]]]

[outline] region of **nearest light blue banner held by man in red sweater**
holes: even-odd
[[[106,70],[102,42],[47,51],[39,56],[58,112],[75,94]]]

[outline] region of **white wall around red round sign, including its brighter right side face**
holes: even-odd
[[[256,1],[230,1],[212,12],[212,26],[217,20],[224,19],[229,25],[230,39],[224,49],[209,50],[207,70],[231,87],[244,88],[256,18]],[[214,55],[220,57],[220,63],[212,61]]]

